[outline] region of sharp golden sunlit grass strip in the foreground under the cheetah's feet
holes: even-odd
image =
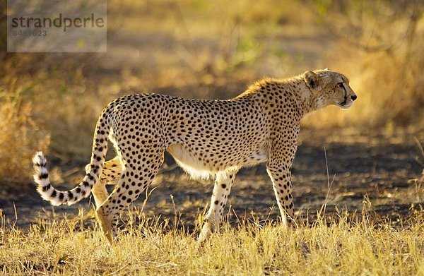
[[[285,230],[242,220],[203,245],[196,234],[159,220],[127,221],[110,244],[97,227],[52,220],[28,230],[1,228],[0,271],[7,275],[424,275],[424,222],[341,213]],[[378,222],[377,222],[378,221]],[[312,226],[312,227],[311,227]]]

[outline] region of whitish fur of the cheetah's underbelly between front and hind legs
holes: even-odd
[[[167,148],[167,151],[170,152],[172,157],[174,157],[175,162],[177,162],[177,164],[194,179],[207,179],[218,172],[237,171],[240,167],[252,166],[267,160],[265,147],[255,150],[251,155],[249,155],[249,157],[245,157],[242,160],[236,160],[235,162],[228,164],[226,167],[216,167],[212,164],[208,166],[205,160],[202,160],[200,157],[196,157],[196,155],[189,152],[189,150],[181,143],[170,145],[170,147]]]

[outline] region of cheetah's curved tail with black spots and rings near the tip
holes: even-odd
[[[70,191],[59,191],[55,189],[49,181],[49,172],[46,168],[46,159],[42,152],[36,152],[33,157],[34,165],[34,181],[37,184],[37,191],[41,197],[52,205],[68,204],[72,205],[79,200],[86,198],[98,181],[102,173],[102,166],[105,162],[107,152],[107,136],[109,134],[109,126],[103,123],[104,118],[100,117],[95,128],[95,136],[93,139],[93,154],[91,155],[90,172],[84,176],[78,186]]]

